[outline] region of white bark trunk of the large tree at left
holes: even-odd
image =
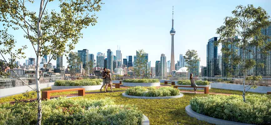
[[[38,22],[37,22],[37,32],[38,32],[38,47],[37,47],[37,63],[36,63],[36,88],[37,88],[37,101],[38,101],[38,119],[37,125],[41,125],[41,118],[42,118],[42,105],[41,105],[41,93],[40,93],[40,84],[39,84],[39,62],[40,62],[40,44],[41,44],[41,16],[43,10],[43,3],[44,0],[40,1],[40,8],[39,8],[39,15],[38,15]]]

